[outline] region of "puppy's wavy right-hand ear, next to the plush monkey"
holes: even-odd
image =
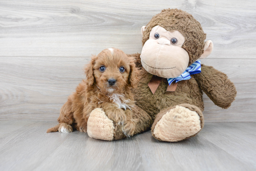
[[[136,88],[138,81],[139,81],[139,70],[135,66],[135,60],[131,57],[130,73],[129,73],[129,85],[132,88]]]

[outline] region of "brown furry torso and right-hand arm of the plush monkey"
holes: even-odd
[[[136,104],[154,118],[160,110],[173,107],[182,103],[197,106],[203,111],[202,90],[208,97],[222,108],[228,108],[235,100],[236,89],[226,74],[214,69],[211,66],[202,65],[201,73],[191,75],[191,79],[179,81],[174,92],[166,92],[167,80],[162,79],[154,96],[148,87],[152,78],[141,65],[140,54],[132,54],[137,59],[137,67],[141,67],[142,78],[138,83],[135,94]]]

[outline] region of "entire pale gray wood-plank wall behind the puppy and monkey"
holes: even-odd
[[[0,120],[56,120],[91,54],[109,47],[140,53],[141,27],[165,8],[185,10],[201,23],[214,43],[202,63],[237,87],[225,110],[204,95],[206,122],[255,122],[254,0],[1,0]]]

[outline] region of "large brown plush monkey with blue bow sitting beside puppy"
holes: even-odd
[[[152,135],[162,141],[196,135],[204,125],[202,91],[224,109],[236,97],[235,86],[226,74],[200,64],[199,59],[211,54],[212,41],[205,42],[200,23],[178,9],[162,10],[142,27],[141,33],[142,53],[129,56],[135,57],[141,68],[141,80],[134,90],[137,105],[152,122],[138,119],[136,127],[144,130],[139,128],[151,126]],[[90,129],[97,128],[97,121],[93,122]],[[125,137],[116,124],[112,132],[113,139]]]

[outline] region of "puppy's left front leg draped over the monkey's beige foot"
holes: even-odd
[[[109,119],[117,122],[119,125],[120,123],[122,125],[124,124],[126,116],[123,109],[117,108],[117,106],[112,103],[102,103],[101,108],[105,111]]]

